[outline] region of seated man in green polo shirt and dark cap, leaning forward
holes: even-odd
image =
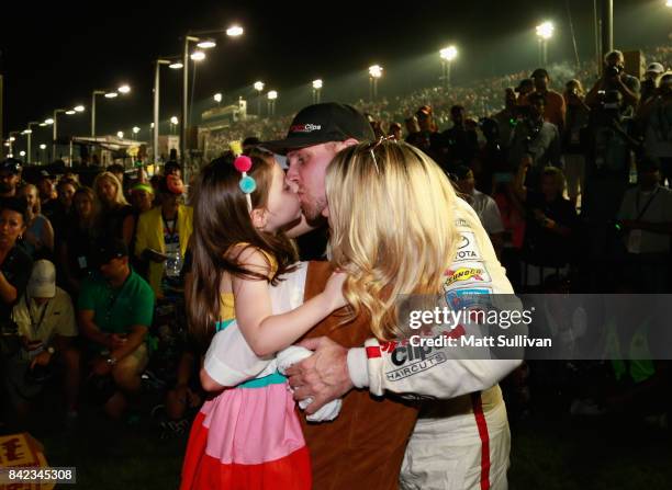
[[[154,293],[128,265],[128,250],[122,240],[101,241],[96,255],[100,274],[82,284],[79,329],[88,340],[89,386],[100,389],[105,384],[98,381],[111,378],[98,401],[104,403],[110,417],[119,418],[127,397],[141,390],[141,374],[149,362],[145,338],[154,315]]]

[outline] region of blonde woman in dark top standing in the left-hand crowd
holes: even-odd
[[[112,172],[99,173],[93,180],[99,231],[101,236],[123,239],[124,219],[133,214],[133,207],[124,197],[121,182]]]

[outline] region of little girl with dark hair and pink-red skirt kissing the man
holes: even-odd
[[[199,176],[194,200],[190,328],[209,337],[234,319],[258,356],[291,345],[345,305],[344,274],[324,293],[272,315],[269,285],[293,270],[295,249],[281,231],[298,221],[298,196],[272,155],[223,157]],[[205,402],[182,468],[187,489],[310,489],[311,466],[294,401],[272,373]]]

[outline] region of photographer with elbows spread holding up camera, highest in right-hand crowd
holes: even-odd
[[[621,95],[620,115],[632,116],[639,102],[639,80],[625,72],[625,59],[621,52],[608,53],[604,57],[604,62],[603,76],[585,96],[585,103],[593,107],[601,102],[600,92],[618,91]]]

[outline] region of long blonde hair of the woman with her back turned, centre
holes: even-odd
[[[348,273],[344,293],[381,340],[405,332],[399,295],[437,295],[457,252],[458,196],[443,170],[405,143],[341,150],[326,172],[329,259]],[[459,215],[458,215],[459,214]]]

